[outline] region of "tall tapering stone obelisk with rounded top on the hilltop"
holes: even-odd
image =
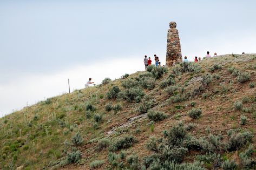
[[[168,67],[173,66],[173,63],[182,62],[179,31],[176,25],[175,22],[170,22],[167,34],[166,66]]]

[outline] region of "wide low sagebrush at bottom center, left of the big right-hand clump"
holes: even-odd
[[[132,146],[137,140],[132,136],[126,136],[120,139],[117,139],[113,144],[109,147],[109,151],[118,151],[120,149],[125,149]]]

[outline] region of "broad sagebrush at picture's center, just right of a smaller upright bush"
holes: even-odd
[[[119,98],[127,100],[129,103],[139,102],[145,93],[139,88],[130,88],[119,93]]]

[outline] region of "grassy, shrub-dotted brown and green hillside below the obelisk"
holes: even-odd
[[[0,119],[0,169],[255,169],[255,72],[224,55],[25,107]]]

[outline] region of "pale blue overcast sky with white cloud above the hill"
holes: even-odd
[[[169,22],[182,56],[256,53],[256,1],[0,0],[0,117],[84,87],[92,77],[165,64]]]

